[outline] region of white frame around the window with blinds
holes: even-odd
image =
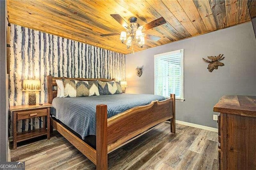
[[[176,101],[184,101],[184,49],[179,49],[176,51],[170,51],[167,53],[160,53],[160,54],[156,54],[154,55],[154,94],[156,94],[156,58],[157,57],[162,57],[162,56],[166,56],[166,55],[174,55],[177,53],[181,53],[181,63],[180,66],[181,68],[181,77],[180,77],[180,97],[176,97]]]

